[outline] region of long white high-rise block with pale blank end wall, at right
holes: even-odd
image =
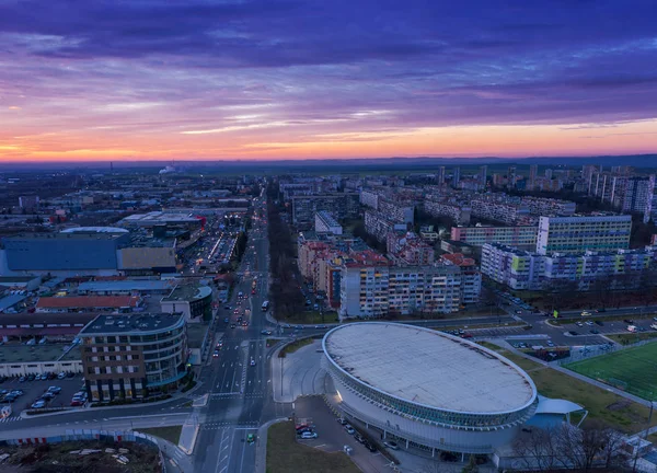
[[[537,253],[583,253],[630,246],[631,216],[541,217]]]

